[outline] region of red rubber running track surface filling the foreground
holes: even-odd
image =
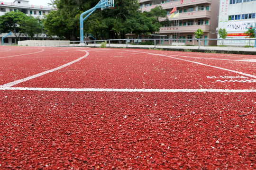
[[[0,47],[0,85],[78,59],[86,54],[81,50],[89,55],[13,87],[256,88],[255,82],[240,81],[256,78],[234,78],[244,75],[166,57],[255,76],[256,62],[235,61],[255,56],[6,46]],[[42,52],[8,57],[37,51]],[[219,76],[240,82],[216,82],[231,80]],[[0,90],[0,169],[254,170],[255,108],[255,92]]]

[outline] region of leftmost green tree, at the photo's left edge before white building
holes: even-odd
[[[22,34],[22,31],[19,28],[19,23],[27,18],[27,15],[20,11],[5,13],[0,16],[0,33],[12,32],[19,40],[19,37]]]

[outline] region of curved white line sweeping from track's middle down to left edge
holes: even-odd
[[[86,52],[86,54],[85,54],[84,56],[80,57],[79,59],[75,59],[75,60],[73,60],[73,61],[71,61],[71,62],[69,62],[69,63],[67,63],[67,64],[64,64],[64,65],[62,65],[62,66],[59,66],[59,67],[57,67],[57,68],[53,68],[53,69],[44,71],[44,72],[42,72],[42,73],[38,73],[38,74],[33,75],[33,76],[28,76],[28,77],[26,77],[26,78],[22,78],[22,79],[20,79],[20,80],[16,80],[16,81],[7,83],[7,84],[5,84],[5,85],[0,85],[0,88],[2,88],[2,87],[3,87],[3,88],[11,87],[11,86],[13,86],[13,85],[17,85],[17,84],[22,83],[22,82],[25,82],[25,81],[27,81],[27,80],[31,80],[31,79],[33,79],[33,78],[37,78],[37,77],[39,77],[39,76],[43,76],[43,75],[45,75],[45,74],[48,74],[48,73],[51,73],[51,72],[53,72],[53,71],[59,70],[59,69],[61,69],[61,68],[67,67],[67,66],[69,66],[69,65],[71,65],[71,64],[73,64],[73,63],[75,63],[75,62],[77,62],[77,61],[79,61],[79,60],[81,60],[81,59],[84,59],[85,57],[87,57],[87,56],[89,55],[89,52],[88,52],[88,51],[85,51],[85,52]]]

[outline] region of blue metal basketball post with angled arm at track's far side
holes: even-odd
[[[100,2],[93,8],[83,12],[81,15],[80,15],[80,43],[84,43],[83,42],[83,21],[89,17],[96,9],[98,8],[103,8],[103,7],[110,7],[111,5],[106,5],[106,3],[108,3],[108,0],[100,0]],[[90,12],[90,13],[89,13]],[[89,14],[88,14],[89,13]],[[88,14],[86,17],[83,18],[83,16],[85,14]]]

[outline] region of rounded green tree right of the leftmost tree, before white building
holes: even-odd
[[[20,31],[24,34],[27,34],[31,40],[33,40],[35,34],[42,33],[42,25],[38,21],[39,18],[34,18],[32,16],[21,19],[18,22]]]

